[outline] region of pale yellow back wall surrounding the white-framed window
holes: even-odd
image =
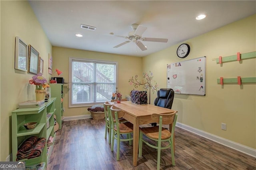
[[[69,57],[118,61],[118,90],[122,93],[122,95],[124,95],[123,97],[125,97],[125,95],[130,95],[130,91],[134,89],[134,87],[128,83],[129,77],[132,77],[136,74],[141,75],[142,77],[142,58],[140,57],[99,53],[94,51],[84,51],[62,47],[53,47],[52,56],[54,66],[53,70],[56,68],[61,70],[62,75],[58,77],[64,77],[65,82],[71,82],[68,77]],[[54,76],[56,75],[54,74]],[[65,112],[63,113],[64,117],[90,115],[90,112],[87,111],[88,107],[68,108],[68,85],[66,84],[63,87],[63,93],[63,107],[65,107]]]

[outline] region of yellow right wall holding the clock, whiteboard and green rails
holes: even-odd
[[[185,59],[176,55],[178,43],[143,58],[143,71],[151,70],[166,88],[166,64],[206,56],[206,96],[175,94],[172,109],[178,122],[256,148],[256,87],[217,84],[217,79],[256,77],[256,58],[216,64],[214,58],[256,51],[256,15],[185,41],[191,47]],[[151,97],[151,102],[156,97]],[[226,123],[227,130],[221,130]]]

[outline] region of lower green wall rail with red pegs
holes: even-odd
[[[256,83],[256,77],[243,77],[238,76],[237,78],[223,78],[217,79],[217,83],[223,85],[224,83],[238,83],[239,85],[242,83]]]

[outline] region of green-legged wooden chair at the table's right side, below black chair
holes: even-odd
[[[161,149],[171,148],[172,166],[175,166],[173,138],[177,117],[178,115],[176,115],[176,111],[168,114],[152,114],[152,121],[158,123],[159,125],[154,127],[140,128],[139,157],[142,156],[142,142],[144,142],[145,144],[152,148],[157,149],[157,170],[160,169]],[[167,128],[162,127],[162,125],[171,124],[171,132]],[[144,140],[143,136],[146,136],[147,138],[156,141],[156,144],[150,144],[147,140]],[[168,142],[168,145],[161,146],[162,142]]]

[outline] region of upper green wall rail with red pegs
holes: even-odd
[[[216,63],[221,64],[227,61],[240,61],[241,59],[248,59],[248,58],[254,58],[254,57],[256,57],[256,51],[253,51],[250,53],[243,53],[243,54],[240,54],[240,52],[238,52],[236,55],[231,55],[228,57],[220,56],[219,58],[216,58]]]

